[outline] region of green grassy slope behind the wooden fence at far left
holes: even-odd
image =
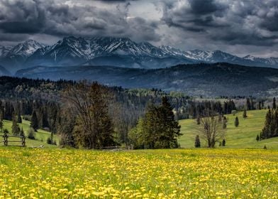
[[[11,121],[4,120],[4,129],[8,129],[8,131],[11,133]],[[28,129],[30,128],[30,122],[27,120],[23,120],[22,124],[19,124],[20,127],[23,127],[23,131],[25,132],[26,136],[28,134]],[[32,147],[32,146],[40,146],[44,145],[47,147],[55,147],[54,145],[47,144],[46,141],[48,137],[50,136],[49,131],[45,131],[43,129],[38,129],[38,132],[35,134],[35,140],[32,139],[26,139],[26,146]],[[54,136],[54,139],[57,141],[57,137]],[[18,140],[18,139],[16,139]],[[2,146],[3,144],[0,144]]]

